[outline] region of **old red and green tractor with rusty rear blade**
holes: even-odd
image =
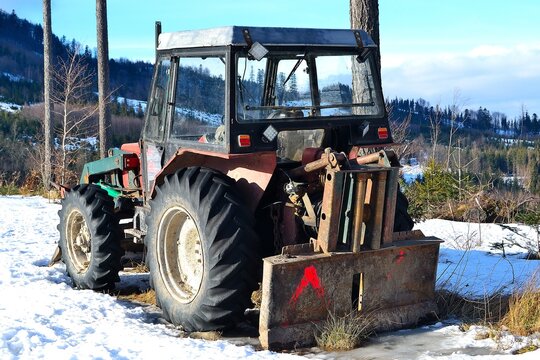
[[[329,312],[374,328],[435,312],[440,241],[412,231],[362,30],[162,33],[138,143],[65,186],[57,255],[107,290],[142,252],[164,317],[230,328],[262,291],[263,347],[308,345]]]

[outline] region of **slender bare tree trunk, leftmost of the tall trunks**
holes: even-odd
[[[46,190],[51,186],[51,123],[52,123],[52,99],[51,99],[51,71],[52,71],[52,25],[51,25],[51,0],[43,0],[43,101],[45,114],[43,117],[44,154],[43,154],[43,187]]]

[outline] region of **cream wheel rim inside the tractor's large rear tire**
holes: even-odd
[[[193,301],[202,284],[204,256],[199,230],[186,209],[175,206],[165,212],[157,247],[165,287],[177,301]]]

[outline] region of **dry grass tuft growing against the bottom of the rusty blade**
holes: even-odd
[[[317,326],[315,341],[325,351],[352,350],[373,333],[372,323],[373,318],[369,314],[336,316],[329,313],[326,321]]]

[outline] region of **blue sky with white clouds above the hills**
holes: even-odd
[[[56,35],[94,48],[95,1],[51,0]],[[150,5],[151,4],[151,5]],[[225,25],[348,28],[348,0],[109,0],[109,55],[152,61],[163,31]],[[0,8],[42,23],[41,0]],[[379,0],[384,94],[540,115],[540,1]]]

